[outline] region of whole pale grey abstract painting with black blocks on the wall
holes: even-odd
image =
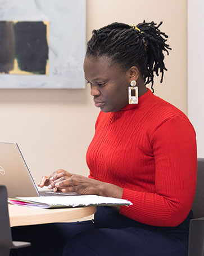
[[[85,88],[85,0],[0,0],[0,89]]]

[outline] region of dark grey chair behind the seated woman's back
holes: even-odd
[[[192,206],[188,256],[203,256],[204,249],[204,158],[198,158],[196,195]]]

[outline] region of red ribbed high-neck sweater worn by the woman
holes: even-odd
[[[196,134],[187,116],[150,90],[139,104],[100,112],[87,151],[89,178],[116,184],[132,206],[120,214],[154,226],[177,226],[196,189]]]

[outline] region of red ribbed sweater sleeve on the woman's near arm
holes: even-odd
[[[132,206],[121,206],[126,217],[153,226],[178,226],[191,210],[197,180],[196,134],[189,120],[175,116],[153,131],[155,192],[123,190]]]

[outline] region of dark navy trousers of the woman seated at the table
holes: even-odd
[[[98,207],[94,221],[13,227],[13,240],[31,246],[11,250],[10,255],[187,256],[191,218],[192,212],[177,227],[156,227]]]

